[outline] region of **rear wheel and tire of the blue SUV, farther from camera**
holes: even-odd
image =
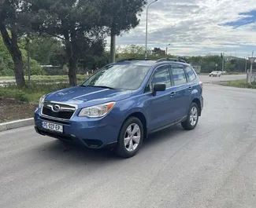
[[[194,130],[198,124],[198,118],[199,118],[198,105],[195,103],[192,103],[187,113],[187,119],[186,121],[181,122],[181,126],[184,128],[184,130]]]

